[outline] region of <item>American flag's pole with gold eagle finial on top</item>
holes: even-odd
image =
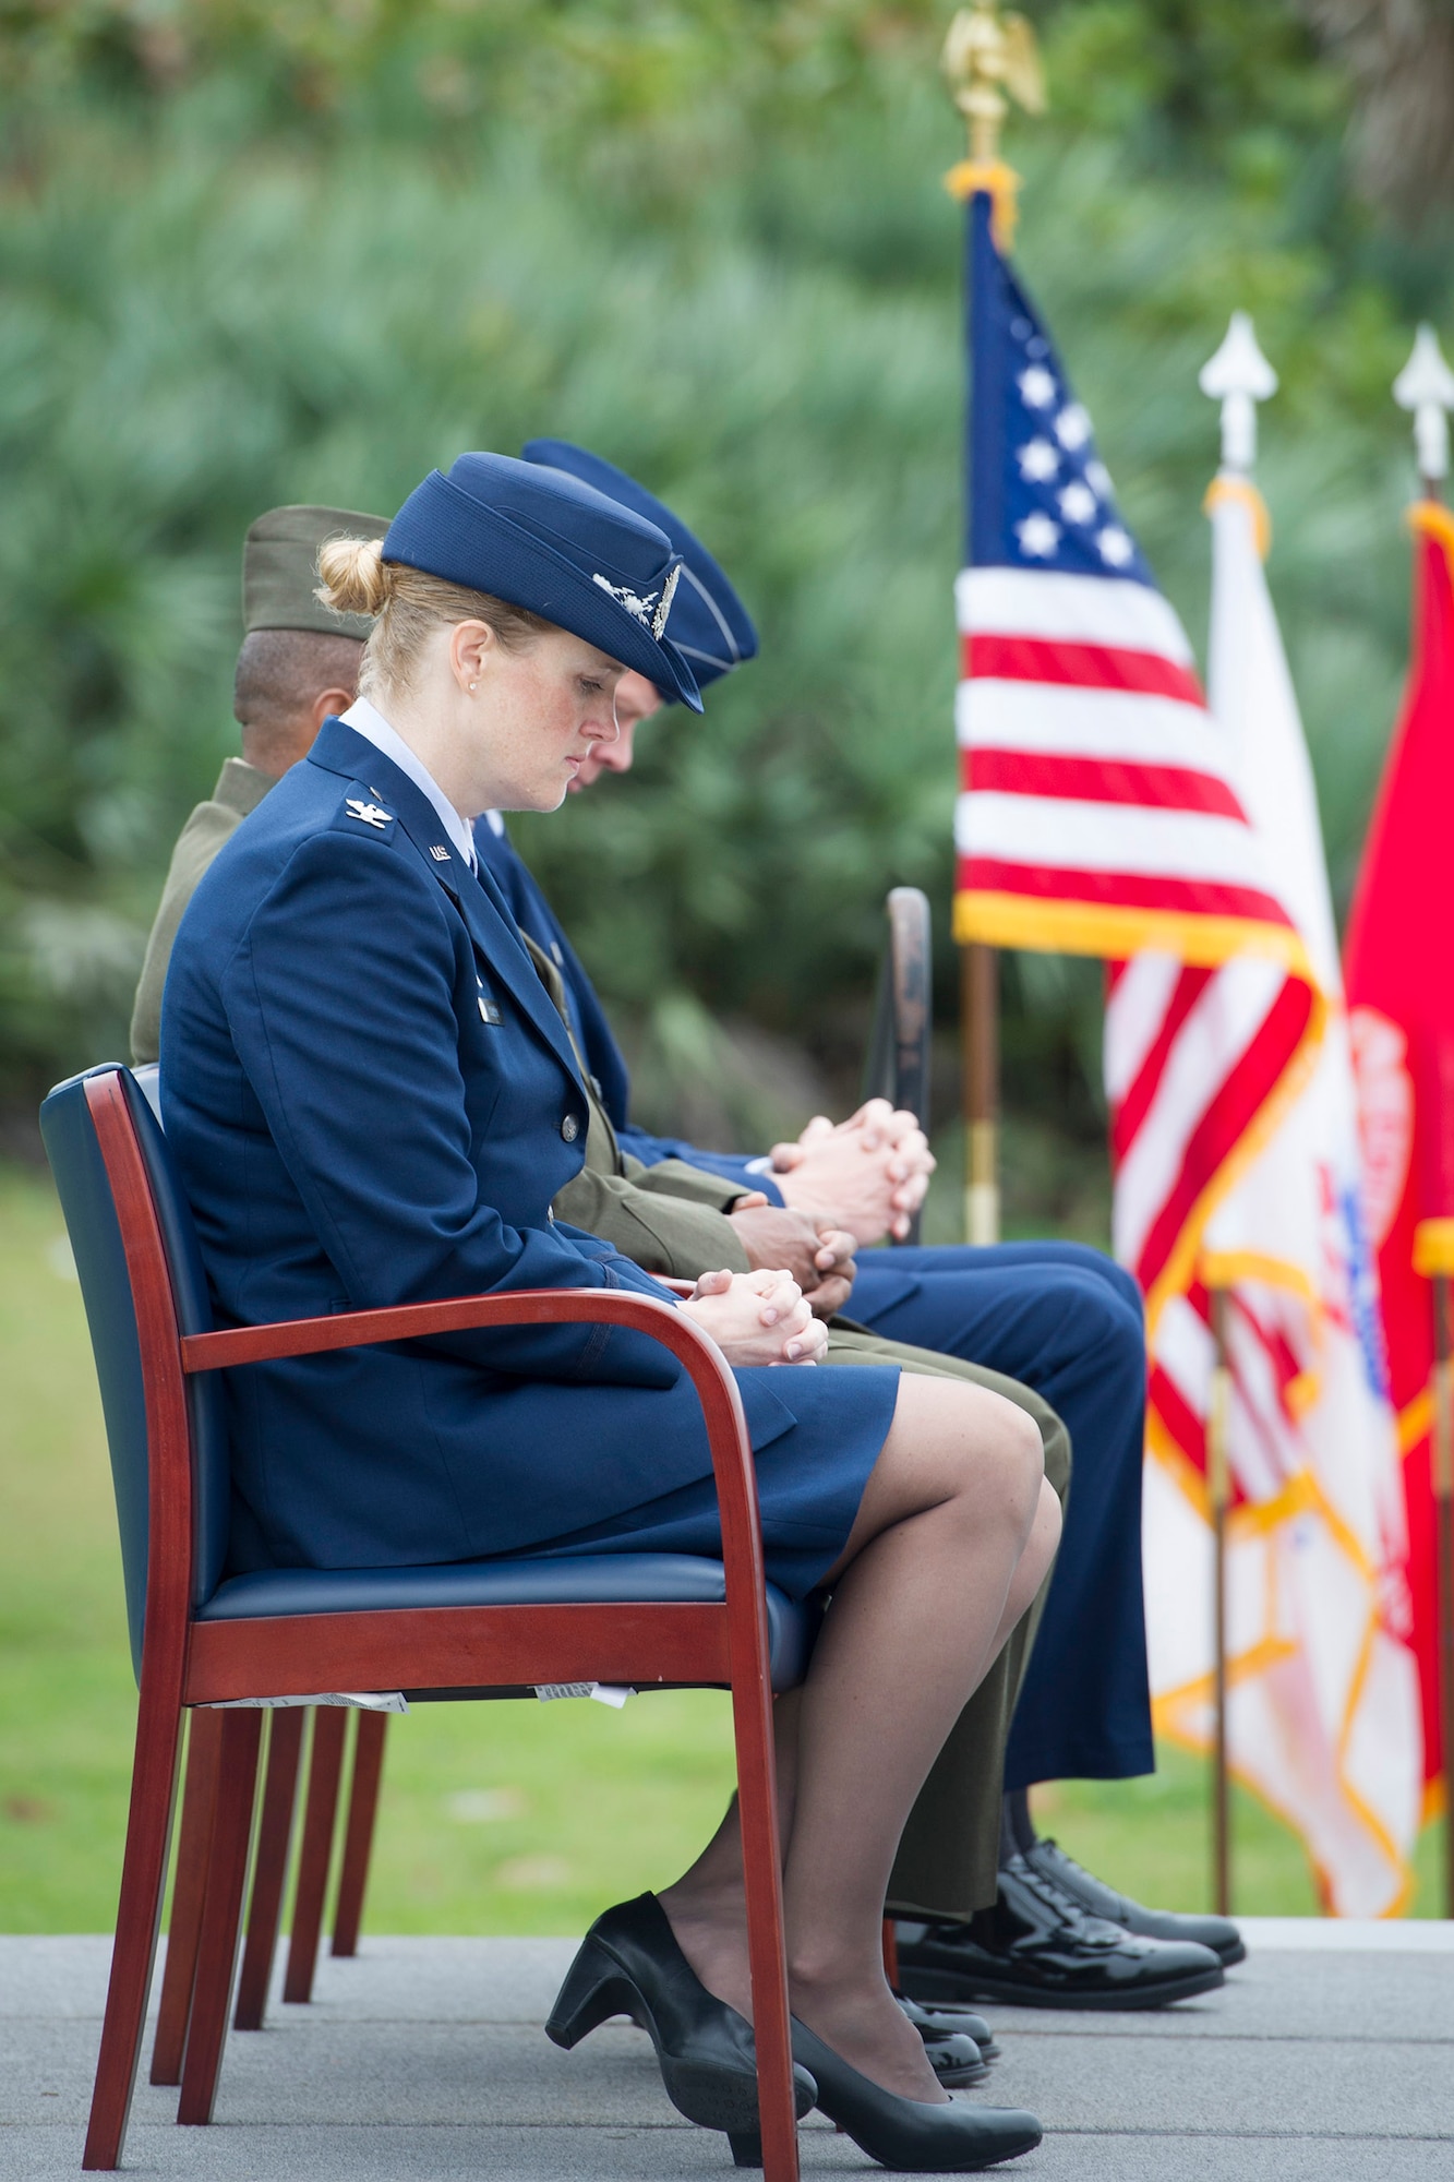
[[[1006,92],[1044,113],[1046,85],[1035,31],[1024,15],[1002,15],[998,0],[976,0],[950,24],[943,72],[969,129],[969,157],[945,175],[958,199],[985,192],[993,201],[996,240],[1004,249],[1015,225],[1017,177],[1000,159]],[[1000,958],[969,940],[961,954],[961,1082],[965,1119],[965,1239],[1000,1242]]]

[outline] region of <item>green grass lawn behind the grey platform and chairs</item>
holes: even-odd
[[[0,1931],[105,1931],[116,1914],[135,1689],[100,1405],[41,1176],[0,1170]],[[389,1726],[369,1894],[376,1931],[572,1933],[664,1883],[731,1787],[725,1695],[417,1706]],[[1207,1905],[1205,1767],[1039,1791],[1041,1824],[1142,1901]],[[1437,1839],[1417,1916],[1437,1914]],[[1236,1809],[1247,1914],[1316,1909],[1297,1839]]]

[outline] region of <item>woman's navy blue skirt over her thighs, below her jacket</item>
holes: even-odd
[[[744,1381],[764,1366],[736,1370]],[[753,1449],[762,1549],[771,1584],[792,1599],[823,1582],[847,1545],[858,1503],[889,1438],[899,1399],[895,1366],[777,1366],[792,1381],[790,1431]],[[524,1549],[531,1560],[568,1554],[701,1554],[723,1558],[716,1484],[696,1477],[585,1530]],[[517,1556],[509,1556],[517,1558]]]

